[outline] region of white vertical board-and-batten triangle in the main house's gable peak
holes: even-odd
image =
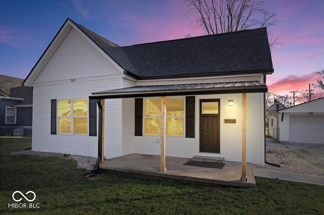
[[[72,28],[35,83],[109,74],[120,72]]]

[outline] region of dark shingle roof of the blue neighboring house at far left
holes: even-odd
[[[24,79],[0,75],[0,96],[23,98],[17,104],[32,104],[32,87],[21,86]]]

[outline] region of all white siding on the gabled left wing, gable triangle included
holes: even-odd
[[[98,136],[50,134],[51,99],[89,98],[93,92],[120,88],[122,77],[98,47],[72,28],[33,83],[32,150],[98,156]],[[106,158],[121,155],[120,106],[121,99],[105,100]]]

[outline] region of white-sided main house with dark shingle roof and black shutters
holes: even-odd
[[[162,154],[166,96],[166,155],[264,165],[272,73],[266,28],[118,46],[67,19],[24,81],[32,150]]]

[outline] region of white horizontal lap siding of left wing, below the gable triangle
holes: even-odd
[[[32,150],[97,156],[98,137],[50,134],[51,99],[88,98],[91,92],[119,88],[120,79],[34,86]],[[106,100],[104,150],[107,158],[120,155],[120,101],[121,99]]]

